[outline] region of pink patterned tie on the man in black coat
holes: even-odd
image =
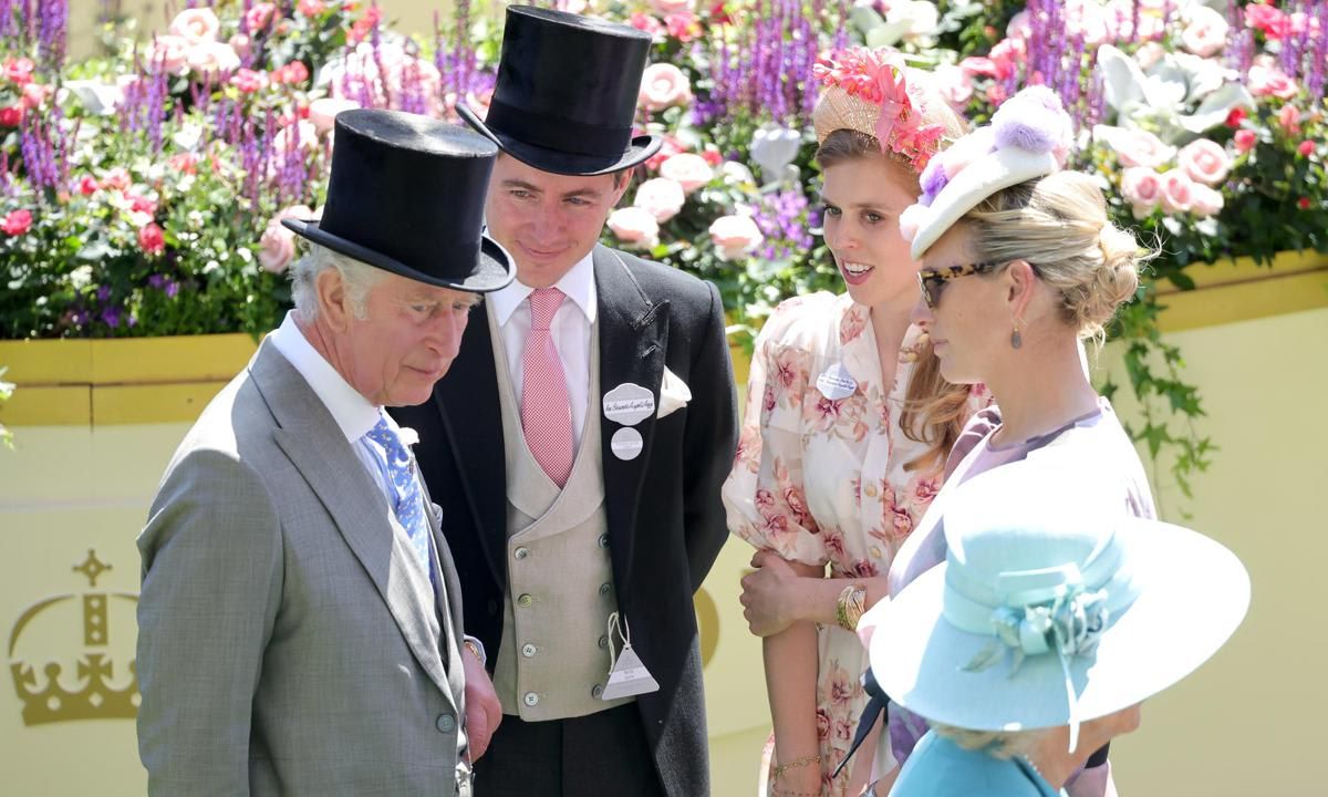
[[[563,361],[554,348],[548,324],[563,303],[558,288],[538,288],[530,294],[530,337],[521,356],[521,429],[526,445],[548,478],[559,487],[572,472],[572,409],[567,398]]]

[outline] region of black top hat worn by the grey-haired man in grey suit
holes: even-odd
[[[397,110],[336,116],[319,222],[282,223],[309,240],[422,283],[482,294],[513,280],[481,235],[498,149],[457,125]]]

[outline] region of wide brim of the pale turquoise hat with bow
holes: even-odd
[[[1129,708],[1177,683],[1231,636],[1250,606],[1235,554],[1181,526],[1130,518],[1118,530],[1139,596],[1109,620],[1096,652],[1069,660],[1077,719]],[[1011,654],[964,671],[995,636],[959,631],[942,616],[948,565],[919,576],[882,612],[871,636],[876,683],[908,711],[971,731],[1053,728],[1070,721],[1054,654]]]

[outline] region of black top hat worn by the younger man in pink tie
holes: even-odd
[[[511,157],[555,174],[607,174],[659,151],[632,137],[648,33],[547,8],[507,7],[498,82],[481,121],[457,113]]]

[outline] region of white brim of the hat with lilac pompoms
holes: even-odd
[[[973,161],[951,179],[936,195],[914,235],[911,254],[922,260],[965,213],[996,191],[1060,170],[1052,153],[1032,153],[1003,147]]]

